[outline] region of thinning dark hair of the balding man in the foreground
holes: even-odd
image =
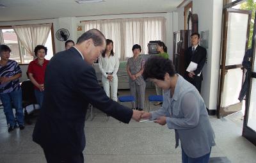
[[[77,38],[77,44],[89,40],[90,38],[92,38],[95,47],[103,45],[106,40],[105,36],[98,29],[90,29]]]

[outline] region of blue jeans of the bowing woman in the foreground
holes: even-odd
[[[182,148],[181,150],[182,150],[182,163],[209,163],[211,150],[210,150],[210,153],[197,158],[188,157],[188,155],[186,155],[186,153]]]

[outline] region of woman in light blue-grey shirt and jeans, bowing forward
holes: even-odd
[[[204,100],[195,86],[175,74],[170,59],[159,56],[148,59],[143,77],[163,88],[164,101],[159,110],[143,113],[141,118],[155,120],[159,125],[167,124],[175,130],[175,148],[180,139],[182,163],[208,163],[215,145],[214,131]]]

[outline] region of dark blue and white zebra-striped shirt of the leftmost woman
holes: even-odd
[[[9,59],[5,66],[0,65],[0,77],[13,77],[17,74],[21,74],[21,70],[16,61]],[[0,94],[10,93],[12,91],[17,91],[18,89],[20,89],[19,79],[0,84]]]

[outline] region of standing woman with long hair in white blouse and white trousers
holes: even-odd
[[[116,73],[119,68],[118,56],[113,52],[113,41],[106,39],[106,49],[99,58],[99,68],[102,73],[102,86],[106,94],[117,101],[118,79]],[[110,93],[111,92],[111,93]]]

